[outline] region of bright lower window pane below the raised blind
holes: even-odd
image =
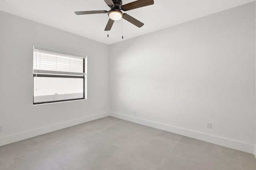
[[[34,77],[34,103],[83,98],[83,78]]]

